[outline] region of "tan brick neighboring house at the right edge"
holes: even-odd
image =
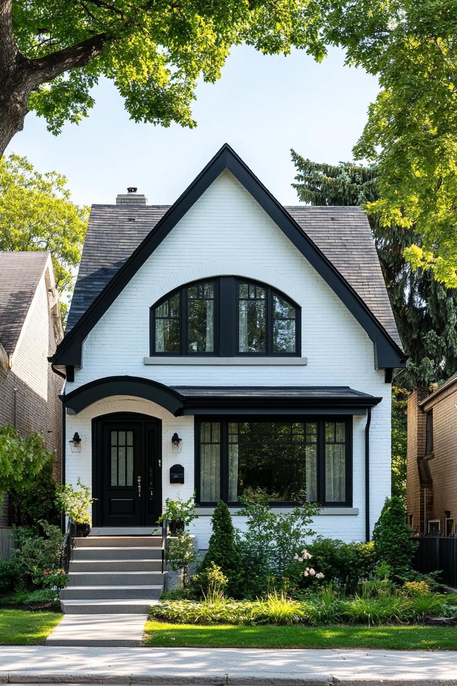
[[[418,533],[457,533],[457,374],[408,398],[407,515]]]

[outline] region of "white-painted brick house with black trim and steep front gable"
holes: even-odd
[[[275,508],[306,490],[319,534],[364,540],[404,359],[365,215],[284,208],[224,145],[171,207],[92,206],[53,356],[66,481],[90,484],[103,527],[152,525],[195,490],[201,549],[217,500],[235,514],[259,486]]]

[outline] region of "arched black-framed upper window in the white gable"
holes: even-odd
[[[151,355],[299,355],[300,308],[264,283],[220,276],[151,307]]]

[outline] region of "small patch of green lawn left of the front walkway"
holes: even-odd
[[[0,609],[0,646],[36,646],[44,643],[62,615]]]

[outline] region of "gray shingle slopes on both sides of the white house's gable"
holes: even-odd
[[[168,209],[168,205],[92,205],[66,333]],[[362,210],[306,205],[285,209],[401,346],[370,226]]]

